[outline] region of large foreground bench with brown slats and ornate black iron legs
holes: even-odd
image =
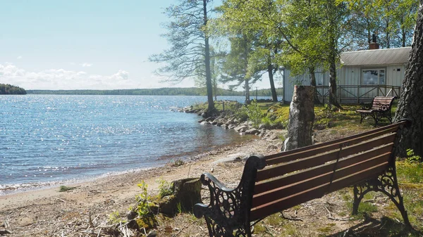
[[[396,178],[393,150],[407,120],[343,139],[247,159],[236,188],[226,188],[212,174],[202,174],[210,203],[197,203],[210,236],[251,236],[252,222],[353,186],[353,214],[369,191],[385,193],[410,226]],[[255,224],[254,223],[254,224]],[[234,232],[235,231],[235,232]],[[235,235],[234,235],[235,233]]]

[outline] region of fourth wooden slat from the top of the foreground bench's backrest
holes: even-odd
[[[333,182],[336,182],[337,179],[341,179],[350,174],[355,174],[361,170],[372,168],[376,165],[379,165],[383,162],[388,162],[391,156],[391,152],[378,155],[374,158],[370,157],[368,160],[361,162],[354,162],[348,167],[343,167],[343,169],[338,169],[336,172],[326,172],[324,174],[319,174],[316,177],[310,179],[304,179],[297,183],[289,184],[286,186],[281,186],[275,188],[271,191],[266,191],[264,193],[257,193],[252,198],[252,207],[258,207],[265,203],[271,203],[274,200],[279,200],[288,196],[293,196],[295,193],[300,193],[303,190],[313,188],[315,186],[321,186],[323,184],[329,183],[332,179]],[[329,167],[334,166],[335,163],[328,165]],[[332,168],[333,169],[333,168]],[[329,192],[329,188],[328,188]]]

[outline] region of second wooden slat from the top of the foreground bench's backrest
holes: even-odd
[[[352,149],[350,150],[350,153],[348,153],[348,150],[349,150],[348,148],[343,148],[343,150],[345,149],[345,151],[341,152],[340,154],[341,158],[343,158],[344,152],[347,155],[350,155],[353,153],[357,153],[360,150],[363,150],[364,148],[366,150],[369,150],[369,148],[374,148],[376,146],[382,146],[387,143],[392,143],[393,140],[395,139],[395,136],[396,136],[396,133],[392,133],[380,139],[369,141],[367,143],[362,143],[360,144],[360,146],[352,146],[350,148]],[[331,153],[322,153],[319,155],[314,155],[312,157],[307,157],[307,155],[305,155],[306,158],[303,158],[303,159],[294,160],[294,161],[282,163],[281,165],[274,165],[272,167],[259,170],[257,172],[256,181],[264,181],[266,179],[272,179],[284,174],[288,174],[290,172],[298,171],[300,169],[307,169],[309,167],[315,167],[315,166],[324,164],[325,162],[330,162],[331,160],[336,160],[336,158],[338,158],[339,146],[340,144],[338,144],[338,149],[332,149],[334,151],[332,151]],[[333,146],[333,148],[336,148],[336,146]]]

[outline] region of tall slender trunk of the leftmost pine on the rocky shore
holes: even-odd
[[[204,27],[207,25],[207,0],[203,0],[203,12],[204,12]],[[212,87],[212,73],[210,72],[210,46],[209,46],[209,36],[207,32],[204,32],[204,48],[205,48],[205,59],[204,63],[206,64],[206,87],[207,87],[207,102],[209,106],[207,108],[208,116],[215,113],[214,101],[213,101],[213,87]]]

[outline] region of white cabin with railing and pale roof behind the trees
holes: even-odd
[[[360,103],[374,96],[400,96],[411,47],[372,49],[341,54],[341,67],[336,72],[339,103]],[[308,74],[291,77],[284,70],[283,99],[290,102],[295,84],[309,85]],[[317,92],[321,102],[329,99],[329,72],[315,72]]]

